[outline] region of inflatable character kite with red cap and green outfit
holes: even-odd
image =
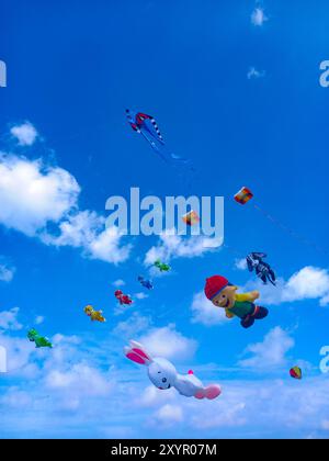
[[[254,321],[266,317],[269,311],[254,304],[259,297],[258,291],[238,294],[237,290],[237,286],[222,276],[209,277],[204,288],[206,297],[216,307],[225,308],[227,318],[239,317],[243,328],[249,328],[254,324]]]

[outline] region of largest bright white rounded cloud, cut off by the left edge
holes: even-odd
[[[77,203],[76,179],[42,160],[0,155],[0,224],[33,236],[57,223]]]

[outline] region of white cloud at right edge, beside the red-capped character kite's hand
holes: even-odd
[[[295,272],[287,281],[279,279],[276,286],[262,284],[254,280],[248,282],[243,290],[260,289],[262,302],[277,305],[303,300],[318,300],[321,306],[329,304],[329,271],[306,266]]]

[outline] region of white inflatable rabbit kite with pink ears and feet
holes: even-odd
[[[129,341],[129,347],[124,348],[125,356],[133,362],[147,366],[148,378],[151,383],[161,390],[174,387],[181,395],[195,398],[216,398],[222,391],[219,385],[211,384],[207,387],[189,371],[188,374],[179,374],[171,362],[167,359],[151,358],[145,348],[136,341]]]

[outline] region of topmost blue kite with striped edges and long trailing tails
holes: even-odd
[[[159,126],[151,115],[143,112],[134,112],[129,109],[126,109],[126,115],[134,132],[140,134],[162,160],[173,166],[190,167],[190,169],[193,170],[190,160],[181,158],[168,149]]]

